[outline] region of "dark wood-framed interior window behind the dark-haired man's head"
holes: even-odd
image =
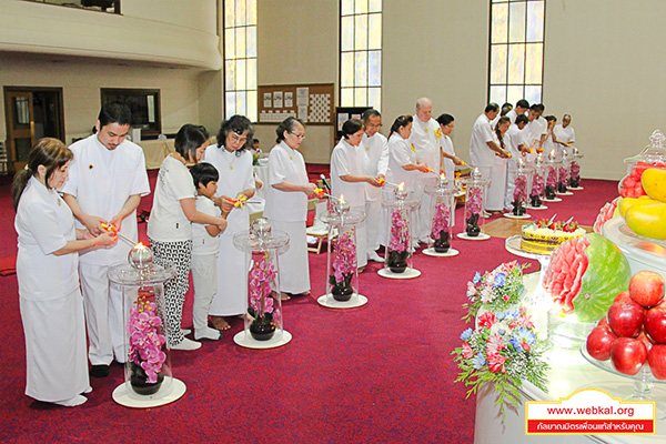
[[[102,88],[102,104],[127,103],[132,111],[132,128],[141,128],[141,135],[162,132],[160,118],[160,90]]]

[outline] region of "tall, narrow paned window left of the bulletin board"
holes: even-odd
[[[224,1],[225,114],[256,122],[256,0]]]

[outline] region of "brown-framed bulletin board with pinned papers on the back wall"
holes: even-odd
[[[333,83],[260,85],[259,123],[280,123],[289,117],[309,125],[335,124]]]

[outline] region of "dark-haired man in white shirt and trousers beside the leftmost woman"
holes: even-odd
[[[139,240],[137,206],[150,193],[143,150],[125,140],[132,114],[127,104],[107,103],[95,123],[97,133],[73,143],[70,176],[62,188],[63,199],[78,220],[93,235],[102,233],[101,223],[112,224],[123,236]],[[123,363],[124,343],[122,292],[109,285],[111,266],[125,263],[131,246],[118,242],[80,253],[79,272],[85,301],[85,322],[90,347],[90,375],[104,377],[115,357]]]

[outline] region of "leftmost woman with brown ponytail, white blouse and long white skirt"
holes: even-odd
[[[26,394],[65,406],[83,404],[82,393],[92,390],[77,253],[117,240],[74,229],[72,212],[56,191],[67,180],[72,157],[61,141],[41,139],[12,184]]]

